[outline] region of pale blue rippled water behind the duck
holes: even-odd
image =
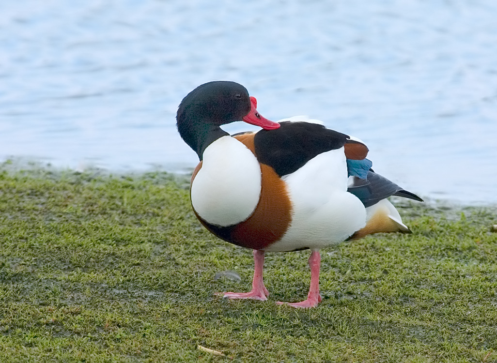
[[[493,0],[0,7],[0,160],[186,170],[197,159],[175,131],[177,105],[229,79],[267,118],[309,115],[362,139],[374,169],[408,190],[497,203]]]

